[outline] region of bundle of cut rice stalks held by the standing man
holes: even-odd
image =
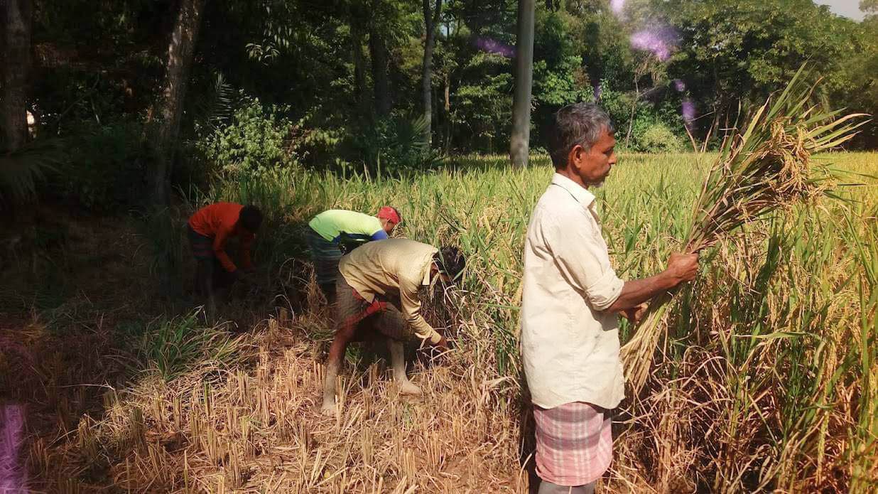
[[[723,142],[719,158],[695,202],[685,252],[699,252],[752,222],[795,203],[824,195],[834,174],[812,156],[836,148],[867,123],[861,113],[820,113],[810,105],[816,84],[799,69],[787,89],[753,115],[746,132]],[[622,359],[634,393],[643,387],[664,327],[672,293],[650,301]]]

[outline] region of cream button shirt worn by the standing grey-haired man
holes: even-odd
[[[623,284],[610,266],[594,195],[556,173],[524,243],[522,360],[533,403],[609,409],[622,401],[618,317],[606,309]]]

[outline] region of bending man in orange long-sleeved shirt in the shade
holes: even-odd
[[[187,230],[192,255],[198,261],[195,272],[195,294],[206,296],[213,305],[215,287],[241,280],[243,272],[251,272],[250,250],[256,231],[263,222],[258,207],[241,206],[234,202],[217,202],[198,209],[189,219]],[[230,237],[241,240],[241,269],[226,253]]]

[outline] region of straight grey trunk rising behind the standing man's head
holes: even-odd
[[[515,166],[523,168],[528,166],[530,141],[530,90],[534,76],[534,0],[518,2],[515,50],[515,100],[512,105],[509,157]]]

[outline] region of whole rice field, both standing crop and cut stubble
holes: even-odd
[[[620,276],[658,272],[680,248],[714,158],[621,156],[595,191]],[[838,198],[760,219],[702,253],[698,279],[669,309],[644,389],[615,410],[614,461],[600,492],[878,490],[878,181],[868,177],[878,154],[820,159],[848,172]],[[65,331],[97,341],[88,366],[58,357],[0,382],[40,417],[21,453],[33,490],[528,491],[522,245],[551,165],[547,156],[523,171],[506,163],[469,156],[400,178],[277,173],[191,194],[193,203],[263,207],[260,280],[280,296],[245,311],[240,334],[198,313],[143,321],[140,331],[105,311],[64,319]],[[455,348],[410,369],[424,390],[417,398],[399,395],[384,360],[349,351],[340,412],[324,418],[331,314],[300,228],[329,207],[385,204],[403,215],[396,236],[456,243],[467,255],[461,286],[429,304]],[[185,258],[173,239],[144,248],[156,245]],[[32,311],[21,345],[54,341],[58,320]],[[622,330],[624,342],[631,329]],[[120,331],[136,336],[104,353]],[[0,349],[0,370],[21,365],[13,353]],[[109,367],[134,370],[111,385]]]

